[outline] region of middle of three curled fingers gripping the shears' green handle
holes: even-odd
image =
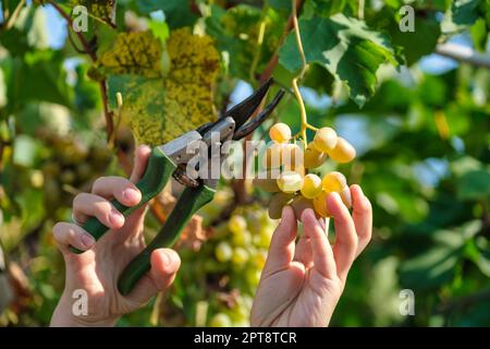
[[[88,217],[96,217],[111,229],[119,229],[124,225],[124,216],[109,201],[95,194],[76,195],[73,200],[73,216],[78,222],[85,222]]]

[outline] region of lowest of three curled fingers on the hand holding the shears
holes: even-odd
[[[70,253],[70,246],[86,251],[96,242],[95,239],[81,227],[64,221],[54,225],[52,228],[52,236],[63,254]]]

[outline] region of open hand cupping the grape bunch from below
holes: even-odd
[[[353,214],[338,193],[328,197],[335,227],[333,245],[313,209],[302,214],[303,234],[286,206],[272,236],[252,308],[253,326],[328,326],[354,260],[371,239],[372,210],[359,185],[352,185]],[[327,228],[326,228],[327,227]]]

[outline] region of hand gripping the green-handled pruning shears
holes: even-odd
[[[150,148],[139,146],[130,180],[120,177],[99,178],[91,193],[76,195],[73,216],[78,225],[58,222],[53,236],[63,254],[66,280],[63,296],[54,311],[51,326],[113,326],[119,317],[146,304],[154,296],[168,288],[180,267],[175,251],[159,249],[151,253],[151,269],[133,291],[123,297],[118,291],[118,279],[124,267],[145,248],[143,236],[146,206],[124,218],[110,204],[117,198],[123,205],[135,206],[142,200],[136,183],[145,173]],[[95,216],[110,230],[95,242],[79,225]],[[75,254],[70,245],[86,251]],[[88,296],[88,314],[74,315],[72,296],[77,289]]]

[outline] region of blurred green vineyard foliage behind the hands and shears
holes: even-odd
[[[85,33],[66,25],[76,4],[88,9]],[[297,4],[310,63],[302,87],[308,120],[334,125],[355,145],[357,159],[339,169],[363,186],[375,214],[372,242],[354,264],[332,325],[490,325],[490,2]],[[415,32],[399,28],[405,4]],[[151,139],[158,142],[176,132],[168,125],[203,110],[213,119],[271,75],[290,89],[301,65],[291,9],[289,0],[0,1],[2,326],[49,324],[64,279],[51,227],[70,219],[73,196],[97,177],[126,176],[130,130],[163,130]],[[205,52],[218,52],[219,67],[194,51],[201,70],[188,75],[169,45],[183,27],[193,39],[210,38]],[[139,46],[115,46],[130,33],[140,34]],[[197,45],[185,43],[177,53]],[[185,89],[210,93],[204,106],[192,105],[189,93],[179,97],[182,76]],[[124,99],[121,84],[135,77],[149,87]],[[151,85],[162,79],[164,87]],[[128,100],[128,122],[114,92]],[[161,99],[148,106],[140,98],[148,92],[162,92]],[[296,100],[287,96],[273,118],[297,131]],[[254,136],[266,136],[271,122]],[[156,200],[149,238],[179,190]],[[176,246],[175,285],[119,325],[246,326],[275,225],[265,203],[267,194],[248,182],[223,182]],[[415,293],[414,316],[399,312],[402,289]]]

